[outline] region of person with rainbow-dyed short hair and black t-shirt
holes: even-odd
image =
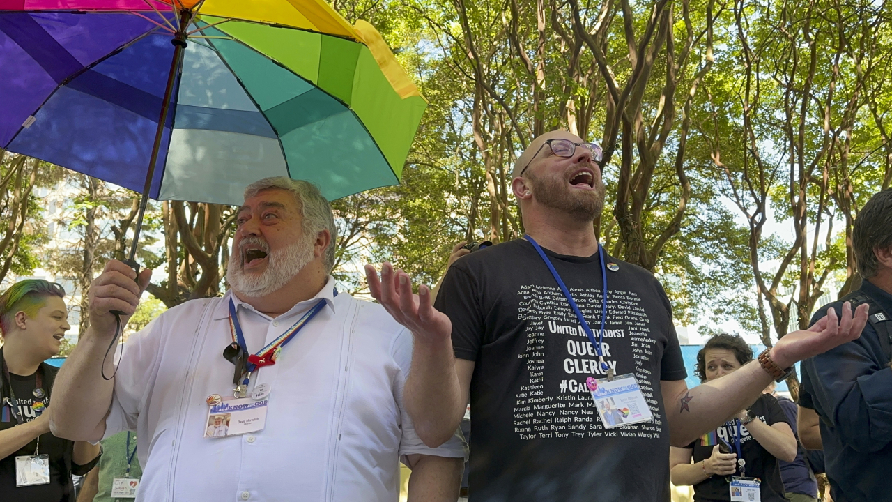
[[[70,330],[64,296],[61,286],[46,280],[21,280],[0,296],[4,341],[0,348],[0,500],[4,502],[74,502],[71,474],[86,474],[99,460],[98,445],[50,433],[46,409],[58,369],[43,361],[59,353],[62,337]],[[42,455],[48,458],[41,460]],[[46,464],[48,480],[32,478],[37,484],[17,486],[23,484],[21,478],[29,466],[37,465],[35,471],[41,471]]]

